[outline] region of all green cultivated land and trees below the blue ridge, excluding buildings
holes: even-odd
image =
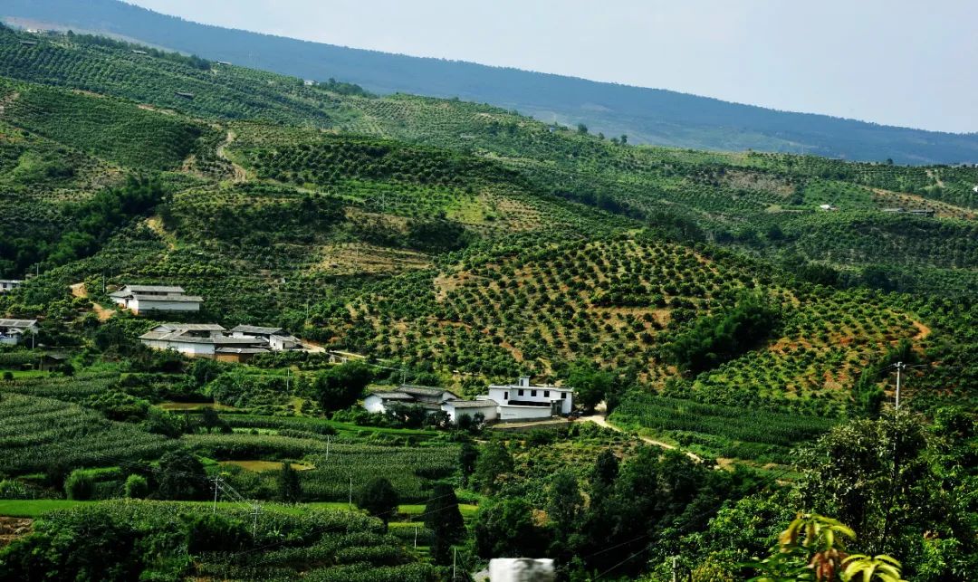
[[[0,27],[0,578],[972,579],[976,187]]]

